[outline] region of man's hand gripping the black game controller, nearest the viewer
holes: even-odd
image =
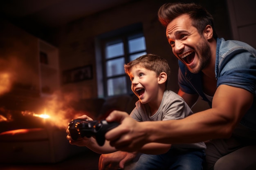
[[[114,110],[106,120],[120,123],[118,128],[108,131],[105,135],[106,139],[110,141],[110,145],[117,150],[134,152],[150,142],[147,141],[148,133],[144,131],[145,122],[135,121],[126,112]]]

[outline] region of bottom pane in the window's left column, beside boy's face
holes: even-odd
[[[126,94],[126,77],[108,79],[108,96]]]

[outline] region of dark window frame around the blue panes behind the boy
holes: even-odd
[[[146,40],[145,40],[145,50],[141,51],[135,51],[132,53],[129,53],[128,48],[128,38],[131,36],[134,36],[136,34],[141,34],[144,36],[144,32],[142,29],[142,23],[133,24],[130,26],[126,26],[124,28],[110,31],[108,33],[104,33],[102,35],[97,36],[95,44],[96,44],[96,63],[97,63],[97,81],[98,81],[98,97],[112,97],[116,96],[114,95],[108,95],[108,79],[116,78],[116,77],[125,77],[126,79],[126,93],[123,94],[133,94],[131,91],[131,82],[130,78],[126,75],[126,73],[120,74],[120,75],[114,75],[114,76],[107,76],[106,72],[106,63],[109,60],[117,59],[117,58],[123,58],[124,57],[124,63],[130,62],[130,55],[145,52],[147,53],[146,49]],[[144,36],[145,38],[145,36]],[[115,40],[121,40],[124,43],[124,55],[115,56],[109,59],[106,59],[106,44],[108,42],[112,42]],[[101,67],[101,68],[99,68]],[[99,68],[99,69],[98,69]],[[100,75],[101,74],[101,75]],[[122,95],[122,94],[117,94]]]

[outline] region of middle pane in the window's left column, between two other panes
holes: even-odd
[[[107,77],[124,74],[124,57],[106,62]]]

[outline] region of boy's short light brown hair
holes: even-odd
[[[160,73],[165,72],[167,74],[167,79],[165,82],[165,85],[167,87],[169,75],[171,74],[171,69],[168,65],[167,60],[165,60],[163,57],[154,54],[142,55],[135,60],[132,60],[128,64],[124,64],[125,73],[130,76],[130,70],[133,66],[136,65],[140,65],[148,70],[155,71],[157,76],[159,76]]]

